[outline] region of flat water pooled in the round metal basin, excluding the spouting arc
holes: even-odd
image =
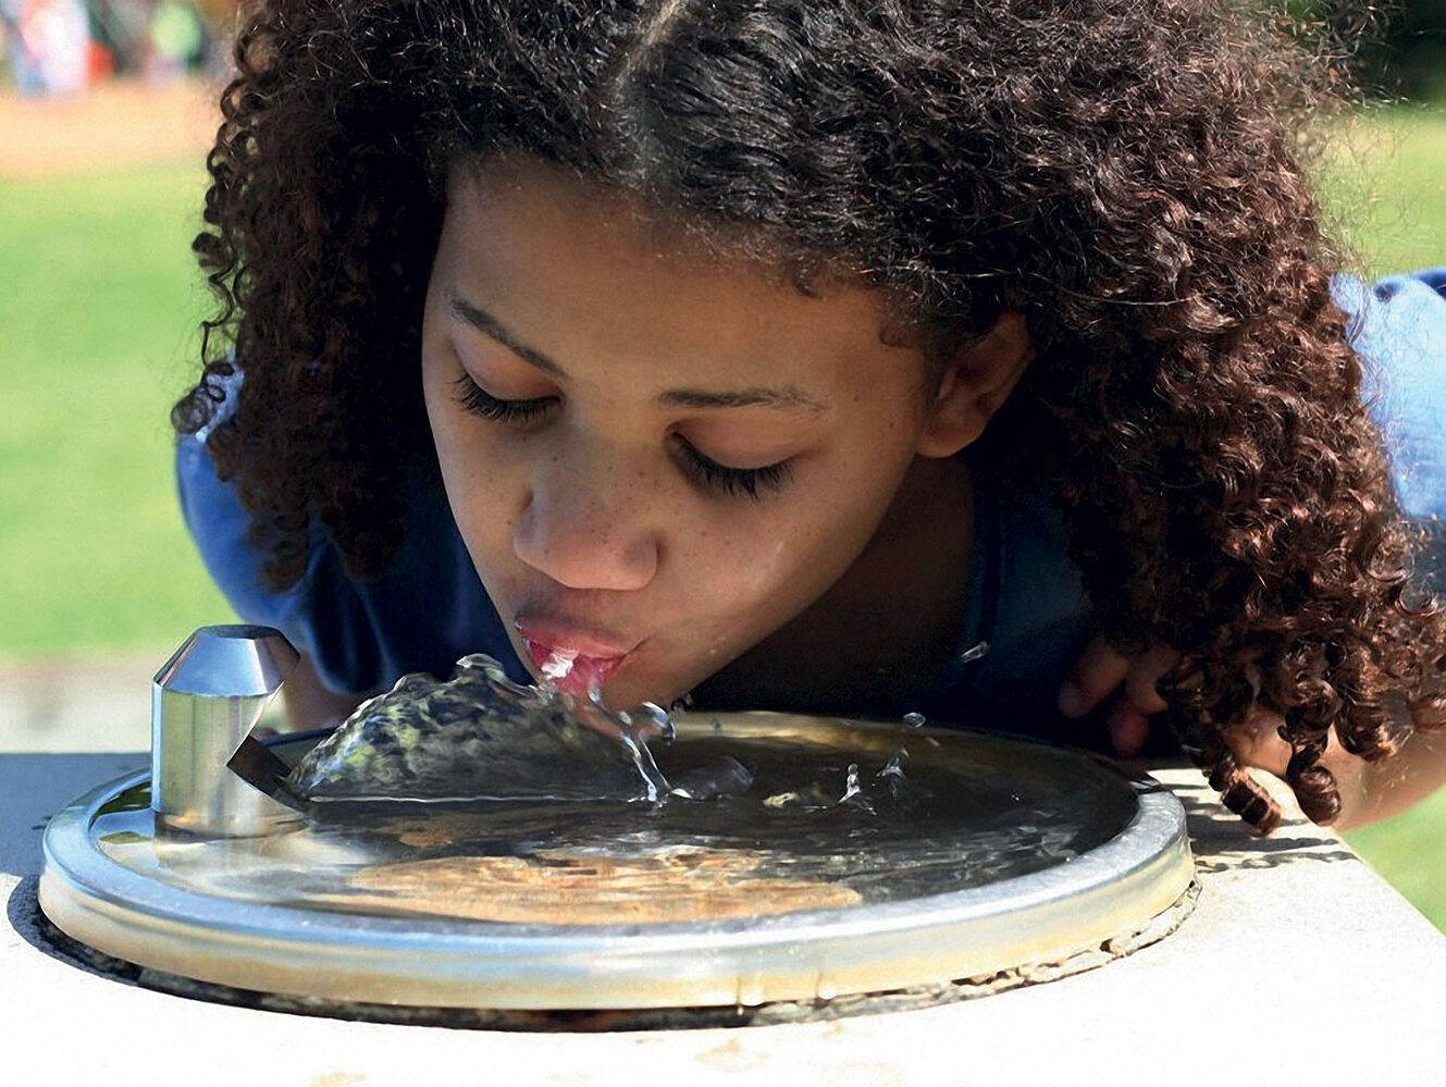
[[[612,925],[982,886],[1064,863],[1118,834],[1134,811],[1118,782],[1063,773],[1063,755],[1018,760],[973,733],[807,720],[820,731],[749,716],[678,718],[677,742],[655,744],[659,776],[674,782],[665,804],[335,799],[294,833],[169,841],[134,809],[140,798],[101,812],[94,833],[127,867],[237,901]],[[787,795],[794,801],[769,804]]]

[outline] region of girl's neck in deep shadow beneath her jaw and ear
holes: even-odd
[[[827,593],[694,691],[713,708],[895,713],[949,665],[967,596],[973,478],[917,458]]]

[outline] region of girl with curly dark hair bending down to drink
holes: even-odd
[[[324,708],[484,650],[1079,740],[1128,672],[1261,828],[1248,765],[1320,822],[1446,775],[1297,153],[1332,74],[1258,20],[270,0],[237,61],[182,503]]]

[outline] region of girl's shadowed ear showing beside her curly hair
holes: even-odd
[[[920,457],[953,457],[976,441],[1034,358],[1024,315],[1006,309],[962,347],[938,384],[920,432]]]

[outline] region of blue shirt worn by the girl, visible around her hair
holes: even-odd
[[[1446,269],[1371,288],[1342,276],[1336,301],[1353,315],[1365,400],[1385,434],[1403,507],[1443,539],[1436,526],[1446,510]],[[327,687],[362,694],[406,672],[448,675],[473,652],[528,681],[435,484],[421,474],[408,480],[403,544],[380,577],[347,577],[314,525],[305,575],[270,593],[259,583],[260,557],[246,545],[236,490],[215,477],[204,441],[205,432],[176,447],[181,509],[201,558],[237,614],[282,630]],[[1079,726],[1060,718],[1054,698],[1089,635],[1080,572],[1048,502],[1002,493],[977,474],[956,665],[908,708],[937,721],[1077,742]]]

